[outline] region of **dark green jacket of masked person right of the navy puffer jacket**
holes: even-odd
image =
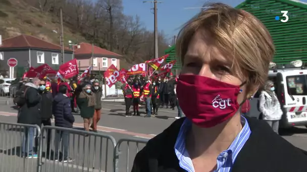
[[[94,116],[95,104],[88,106],[88,98],[85,96],[86,93],[81,92],[77,98],[77,105],[80,108],[80,115],[82,118],[92,118]],[[91,96],[95,96],[94,94]],[[96,99],[96,98],[94,98]]]

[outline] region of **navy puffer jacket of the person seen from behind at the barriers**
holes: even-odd
[[[58,93],[53,102],[53,114],[55,116],[55,126],[72,128],[75,122],[71,114],[70,99],[65,95]]]

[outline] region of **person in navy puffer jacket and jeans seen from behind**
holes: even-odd
[[[66,95],[68,92],[68,88],[66,85],[60,85],[59,93],[56,95],[53,102],[53,114],[55,116],[55,126],[64,127],[64,128],[72,128],[73,123],[75,122],[75,118],[71,112],[71,104],[70,99]],[[59,144],[62,140],[61,147],[64,148],[62,152],[59,152]],[[68,157],[68,145],[69,145],[69,132],[68,131],[56,131],[55,136],[55,160],[56,161],[72,161],[70,157]],[[59,157],[59,159],[58,159]]]

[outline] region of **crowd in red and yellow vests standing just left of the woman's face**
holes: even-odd
[[[155,74],[150,77],[142,75],[129,76],[127,84],[123,85],[122,90],[125,97],[126,116],[140,116],[139,106],[141,102],[145,103],[146,115],[158,115],[159,108],[178,109],[179,119],[182,117],[182,111],[178,103],[176,94],[177,81],[173,75],[162,79]],[[130,107],[133,106],[133,114],[130,113]]]

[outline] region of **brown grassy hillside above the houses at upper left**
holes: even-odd
[[[48,42],[60,44],[60,19],[50,13],[42,13],[24,1],[0,0],[0,35],[3,39],[20,34],[33,35]],[[80,33],[64,23],[64,44],[68,41],[88,42]],[[121,59],[121,67],[130,64]]]

